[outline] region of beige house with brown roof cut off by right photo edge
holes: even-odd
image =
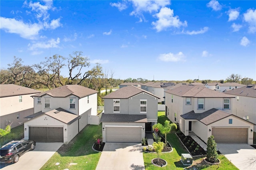
[[[240,87],[238,89],[233,89],[224,92],[226,94],[232,95],[233,114],[256,124],[256,86],[248,85]],[[256,126],[254,126],[254,131],[256,131]]]

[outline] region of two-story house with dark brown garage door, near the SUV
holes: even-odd
[[[64,85],[32,95],[34,114],[26,117],[24,138],[69,142],[87,124],[98,125],[97,93],[80,85]]]

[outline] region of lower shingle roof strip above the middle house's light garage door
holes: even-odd
[[[147,123],[147,115],[102,114],[100,122],[136,122]]]

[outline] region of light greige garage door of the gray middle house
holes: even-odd
[[[106,127],[106,142],[141,142],[141,127]]]

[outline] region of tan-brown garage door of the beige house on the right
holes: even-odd
[[[248,128],[212,128],[216,143],[247,143]]]

